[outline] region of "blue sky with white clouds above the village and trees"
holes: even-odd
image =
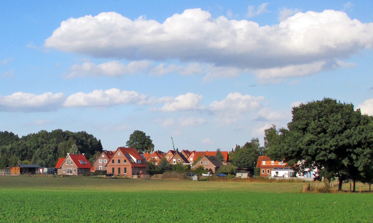
[[[0,131],[228,151],[334,98],[373,115],[372,1],[0,1]]]

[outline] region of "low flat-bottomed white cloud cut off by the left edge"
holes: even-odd
[[[61,107],[65,95],[46,92],[41,95],[16,92],[12,95],[0,96],[0,111],[39,112],[53,111]]]

